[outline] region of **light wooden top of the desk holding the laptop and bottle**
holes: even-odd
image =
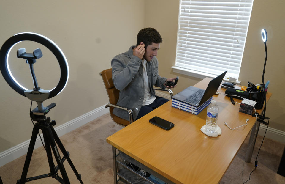
[[[205,89],[210,80],[205,78],[195,87]],[[218,91],[224,93],[225,89]],[[267,93],[267,100],[270,96]],[[218,137],[208,137],[200,130],[206,123],[207,108],[194,115],[173,108],[170,100],[109,136],[107,142],[174,183],[219,183],[256,118],[238,112],[240,105],[232,105],[225,95],[214,95],[213,99],[219,106],[218,125],[222,133]],[[175,126],[166,131],[152,125],[148,120],[154,116]],[[236,130],[224,125],[227,122],[234,128],[246,123],[247,118],[248,125]]]

